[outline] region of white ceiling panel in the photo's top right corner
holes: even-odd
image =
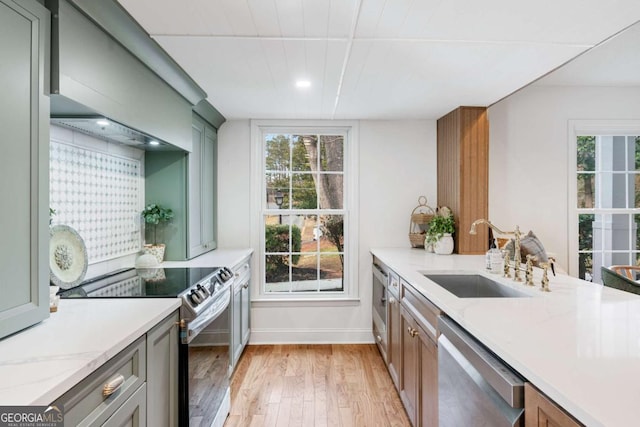
[[[388,3],[397,10],[387,13]],[[399,22],[403,14],[405,25]],[[635,22],[640,2],[620,0],[612,6],[600,0],[429,0],[411,4],[363,0],[360,16],[358,38],[595,44]]]

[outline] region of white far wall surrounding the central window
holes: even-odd
[[[250,215],[257,212],[249,209],[250,133],[248,120],[226,122],[218,133],[218,240],[223,248],[251,242]],[[425,195],[436,205],[436,122],[361,121],[359,134],[359,303],[255,304],[252,343],[373,342],[369,249],[409,247],[409,215],[418,197]],[[253,286],[259,286],[256,279],[254,274]]]

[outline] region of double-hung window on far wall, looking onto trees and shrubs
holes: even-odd
[[[349,295],[349,129],[260,127],[259,135],[261,294]]]

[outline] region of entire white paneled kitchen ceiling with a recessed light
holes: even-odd
[[[638,0],[119,1],[227,119],[436,119],[640,19]]]

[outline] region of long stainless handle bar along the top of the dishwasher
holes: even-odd
[[[440,316],[438,327],[506,403],[524,407],[524,378],[448,317]]]

